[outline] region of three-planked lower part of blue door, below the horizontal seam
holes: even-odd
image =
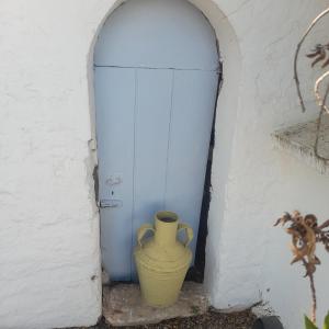
[[[101,247],[112,280],[135,280],[136,231],[160,209],[195,238],[212,132],[215,71],[95,68]]]

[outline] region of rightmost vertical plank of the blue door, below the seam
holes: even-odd
[[[175,70],[169,137],[166,208],[194,230],[195,253],[212,124],[216,71]]]

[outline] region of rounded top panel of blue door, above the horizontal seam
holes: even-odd
[[[216,35],[190,1],[125,1],[104,23],[94,63],[215,70],[218,67]]]

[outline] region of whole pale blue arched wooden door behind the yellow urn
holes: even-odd
[[[94,71],[103,265],[134,280],[136,230],[156,212],[178,213],[197,236],[216,37],[185,0],[128,1],[103,26]]]

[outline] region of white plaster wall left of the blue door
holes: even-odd
[[[101,313],[87,81],[98,3],[0,3],[1,329]]]

